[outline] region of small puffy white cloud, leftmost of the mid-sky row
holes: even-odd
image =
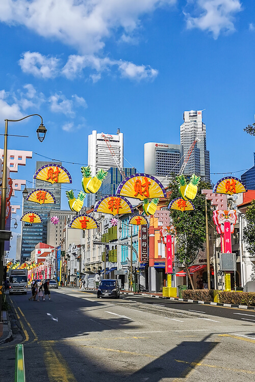
[[[23,53],[19,65],[24,73],[33,74],[35,77],[54,78],[57,75],[59,62],[60,60],[56,57],[27,51]]]

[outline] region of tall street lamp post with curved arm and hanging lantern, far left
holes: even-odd
[[[41,118],[41,124],[36,130],[37,137],[40,142],[45,138],[46,128],[43,125],[42,117],[39,114],[31,114],[20,119],[5,119],[5,142],[4,142],[4,161],[3,161],[3,179],[2,179],[2,196],[1,196],[1,212],[0,212],[0,232],[3,233],[0,237],[0,314],[2,310],[2,295],[3,295],[3,276],[4,276],[4,254],[5,254],[5,238],[4,231],[6,219],[6,190],[7,190],[7,137],[8,137],[8,122],[19,122],[23,119],[38,116]]]

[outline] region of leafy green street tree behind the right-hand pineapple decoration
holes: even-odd
[[[188,181],[187,181],[188,183]],[[175,198],[180,198],[179,182],[176,175],[173,174],[169,183],[171,195],[168,203]],[[177,241],[176,259],[183,263],[190,280],[192,289],[194,289],[193,281],[190,276],[189,266],[195,260],[200,250],[205,250],[206,242],[206,199],[201,194],[202,189],[212,189],[212,184],[200,181],[197,190],[197,196],[192,203],[194,211],[177,211],[170,209],[170,219],[174,227],[173,234]],[[211,201],[207,201],[208,207],[208,223],[212,221],[213,212],[211,210]]]

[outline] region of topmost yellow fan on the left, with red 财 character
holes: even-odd
[[[44,180],[52,184],[55,183],[72,183],[72,178],[69,172],[62,166],[56,163],[50,163],[40,167],[34,175],[34,179]]]

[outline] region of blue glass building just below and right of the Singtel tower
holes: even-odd
[[[137,170],[134,167],[124,167],[122,169],[125,176],[136,174]],[[106,195],[116,194],[116,189],[119,183],[122,181],[123,177],[117,167],[111,167],[108,170],[107,177],[103,180],[103,183],[99,189],[98,199],[103,198]]]

